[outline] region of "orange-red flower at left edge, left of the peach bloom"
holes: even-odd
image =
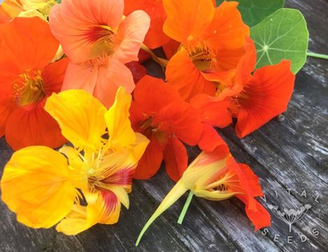
[[[50,63],[58,47],[49,25],[38,17],[16,17],[0,26],[0,136],[6,134],[14,150],[66,142],[44,109],[47,97],[61,90],[68,63]]]

